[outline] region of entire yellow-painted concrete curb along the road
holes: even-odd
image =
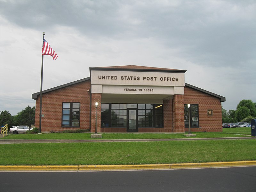
[[[121,170],[159,170],[159,169],[196,169],[217,167],[256,166],[256,161],[182,163],[182,164],[145,164],[145,165],[0,165],[0,172],[46,172],[46,171],[121,171]]]

